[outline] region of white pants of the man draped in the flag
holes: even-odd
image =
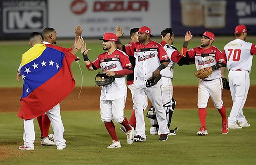
[[[53,138],[56,143],[57,148],[65,148],[66,140],[63,138],[64,126],[60,116],[60,106],[59,103],[46,112],[48,115],[52,128],[53,128]],[[34,130],[34,118],[30,120],[24,120],[24,131],[23,131],[23,141],[25,147],[33,147],[35,141],[35,130]]]

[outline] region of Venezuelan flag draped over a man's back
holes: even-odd
[[[24,84],[18,117],[41,116],[71,93],[75,80],[70,66],[74,60],[77,57],[73,54],[44,44],[36,44],[22,55]]]

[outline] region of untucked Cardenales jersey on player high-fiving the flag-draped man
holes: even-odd
[[[124,68],[131,67],[129,57],[120,50],[115,50],[111,55],[108,52],[104,52],[98,56],[98,58],[92,62],[93,68],[102,69],[105,71],[120,71]],[[120,97],[126,96],[127,87],[125,83],[125,76],[115,78],[115,81],[108,86],[101,88],[100,100],[116,100]]]

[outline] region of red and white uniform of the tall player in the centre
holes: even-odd
[[[160,65],[160,62],[169,61],[166,51],[155,42],[150,41],[147,45],[140,42],[130,43],[125,46],[125,52],[129,56],[136,58],[134,68],[135,85],[135,116],[136,116],[136,135],[146,138],[143,105],[147,95],[156,109],[156,117],[162,134],[169,133],[165,109],[162,106],[161,85],[162,79],[154,86],[147,88],[146,81]]]

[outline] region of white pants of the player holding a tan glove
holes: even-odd
[[[198,108],[206,108],[210,96],[214,106],[221,109],[223,106],[221,78],[214,79],[212,81],[200,80],[197,93]]]

